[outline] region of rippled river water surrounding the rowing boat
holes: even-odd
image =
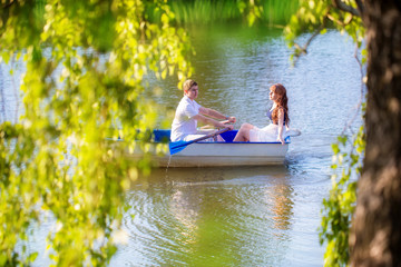
[[[200,105],[236,116],[236,129],[245,121],[263,127],[268,87],[281,82],[291,126],[302,135],[292,139],[283,166],[156,169],[138,179],[124,218],[128,238],[110,266],[322,266],[320,211],[331,188],[331,144],[361,98],[352,40],[320,36],[292,67],[281,30],[227,24],[189,32]],[[6,90],[7,68],[0,72]],[[156,99],[172,111],[183,96],[175,85],[160,83]],[[10,103],[13,92],[3,96]],[[7,109],[4,101],[0,108]]]

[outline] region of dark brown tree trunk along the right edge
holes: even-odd
[[[350,237],[352,266],[401,266],[401,3],[365,0],[366,149]]]

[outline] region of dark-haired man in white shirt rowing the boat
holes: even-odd
[[[235,117],[228,117],[216,110],[202,107],[195,101],[195,98],[198,96],[198,85],[196,81],[186,80],[183,89],[184,97],[178,103],[172,125],[172,141],[190,141],[205,136],[196,129],[198,120],[216,128],[234,129],[233,125],[226,123],[234,123],[236,121]],[[223,141],[221,137],[217,140]]]

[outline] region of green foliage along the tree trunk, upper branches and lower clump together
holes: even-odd
[[[324,34],[326,29],[336,29],[346,32],[355,42],[360,55],[355,55],[361,66],[366,61],[366,50],[362,48],[365,37],[365,28],[358,14],[355,0],[342,0],[341,2],[352,9],[353,12],[344,11],[331,0],[301,0],[300,9],[291,18],[284,33],[290,48],[294,49],[293,57],[306,53],[307,46],[319,34]],[[304,33],[311,33],[305,46],[295,41]],[[359,60],[361,58],[361,60]],[[362,75],[363,76],[363,75]],[[361,83],[365,77],[361,77]],[[361,96],[362,98],[362,96]],[[356,112],[365,112],[365,100],[361,99],[360,109]],[[349,125],[345,130],[351,130]],[[348,266],[350,259],[349,236],[352,217],[356,205],[356,179],[361,175],[364,157],[365,135],[364,126],[354,135],[342,134],[338,141],[332,145],[332,189],[327,199],[323,200],[322,225],[320,228],[320,241],[326,245],[324,266]]]

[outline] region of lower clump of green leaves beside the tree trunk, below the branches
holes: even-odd
[[[356,205],[356,178],[361,176],[364,148],[363,126],[352,137],[339,136],[338,142],[332,145],[332,189],[329,198],[323,199],[320,228],[320,243],[326,243],[324,266],[349,264],[349,237]]]

